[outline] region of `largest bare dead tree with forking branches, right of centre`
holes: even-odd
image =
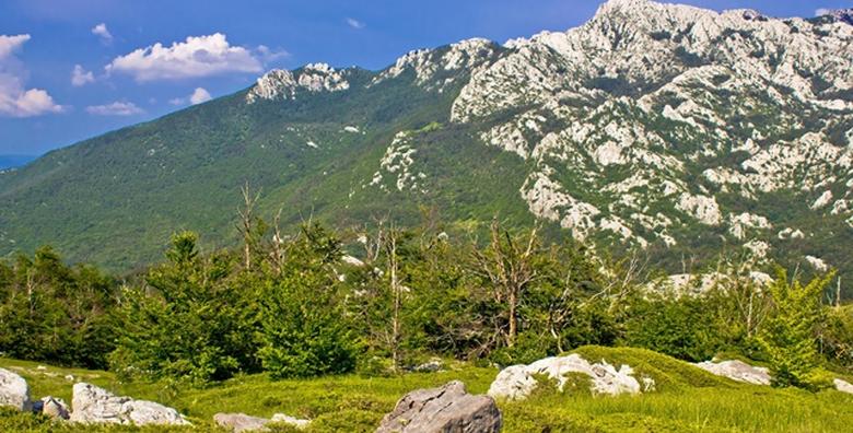
[[[491,225],[491,244],[484,251],[474,248],[477,273],[492,284],[495,301],[506,306],[507,347],[515,344],[518,335],[518,305],[528,285],[537,278],[533,264],[538,245],[537,232],[538,226],[530,231],[527,242],[519,243],[522,239],[513,238],[495,219]]]

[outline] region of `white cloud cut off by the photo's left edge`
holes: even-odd
[[[30,35],[0,35],[0,116],[33,117],[47,113],[61,113],[46,91],[26,89],[21,62],[13,56]]]

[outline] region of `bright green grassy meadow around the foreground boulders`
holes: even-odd
[[[617,366],[629,364],[638,376],[654,378],[657,390],[641,396],[594,397],[585,390],[560,394],[544,388],[526,401],[499,402],[504,432],[841,432],[853,425],[853,396],[836,390],[811,394],[739,384],[641,349],[585,347],[577,352],[589,361],[604,359]],[[271,382],[266,375],[249,375],[206,389],[183,389],[164,383],[120,384],[108,372],[51,366],[38,370],[38,365],[0,359],[0,366],[16,370],[27,379],[34,397],[50,394],[70,401],[71,382],[65,376],[72,374],[120,395],[175,407],[194,422],[196,431],[217,431],[210,420],[224,411],[259,417],[283,412],[311,418],[311,432],[372,432],[396,401],[412,389],[460,379],[469,391],[482,394],[496,374],[495,368],[459,363],[434,374],[280,382]],[[0,431],[83,430],[4,411],[0,413]],[[276,431],[291,430],[280,426]]]

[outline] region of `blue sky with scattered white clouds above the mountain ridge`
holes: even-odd
[[[685,0],[774,16],[850,1]],[[314,61],[381,69],[408,50],[588,20],[586,0],[2,0],[0,154],[39,154]],[[160,44],[157,46],[156,44]],[[173,46],[173,44],[176,44]],[[203,55],[202,55],[203,54]]]

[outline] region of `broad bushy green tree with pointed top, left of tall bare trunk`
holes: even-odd
[[[245,297],[229,280],[227,255],[201,258],[197,236],[176,234],[168,261],[127,289],[122,335],[110,367],[125,379],[173,377],[203,385],[248,367],[252,326]]]

